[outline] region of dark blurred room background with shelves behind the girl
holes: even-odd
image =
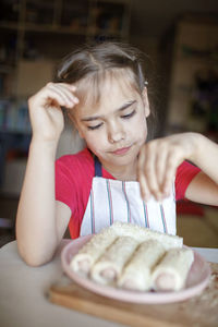
[[[121,40],[146,53],[156,136],[196,131],[218,142],[217,0],[1,0],[0,246],[15,238],[32,135],[27,98],[53,78],[61,58],[90,40]],[[66,122],[57,157],[82,147]],[[217,207],[179,203],[178,234],[186,245],[218,247]]]

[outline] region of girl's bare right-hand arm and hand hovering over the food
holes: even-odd
[[[202,169],[190,183],[189,199],[218,205],[218,145],[198,133],[175,134],[145,144],[138,159],[142,196],[161,201],[170,192],[178,166],[191,160]]]

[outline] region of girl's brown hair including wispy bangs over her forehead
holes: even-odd
[[[76,84],[83,89],[87,89],[88,83],[93,88],[93,101],[98,101],[101,81],[106,75],[117,77],[128,74],[130,76],[128,83],[131,83],[131,86],[142,95],[146,85],[143,56],[144,53],[138,49],[121,43],[84,45],[63,58],[57,71],[56,82]],[[77,96],[80,97],[78,94]],[[87,96],[86,93],[85,97]],[[80,105],[82,102],[80,97]]]

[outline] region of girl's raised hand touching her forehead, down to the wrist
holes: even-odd
[[[64,83],[48,83],[28,100],[34,138],[58,142],[64,120],[61,107],[72,109],[78,99],[76,87]]]

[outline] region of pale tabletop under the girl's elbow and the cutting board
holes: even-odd
[[[63,275],[60,252],[68,242],[63,240],[52,262],[38,268],[28,267],[21,259],[15,241],[0,249],[1,327],[121,326],[48,301],[47,290]],[[207,261],[218,263],[218,249],[194,250]]]

